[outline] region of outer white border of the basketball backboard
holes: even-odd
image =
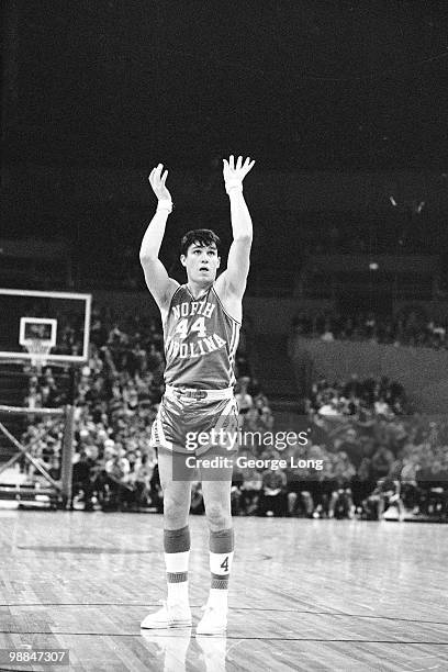
[[[0,289],[0,295],[8,296],[42,296],[46,299],[74,299],[78,301],[85,301],[86,303],[86,320],[85,320],[85,333],[82,343],[82,355],[52,355],[48,352],[47,361],[65,361],[67,363],[83,363],[89,358],[89,343],[90,343],[90,315],[92,310],[92,295],[81,294],[76,292],[43,292],[37,290],[15,290],[15,289]],[[37,318],[34,318],[37,321]],[[48,322],[51,318],[43,318],[44,322]],[[33,355],[29,352],[11,352],[9,350],[0,350],[0,359],[32,359]]]

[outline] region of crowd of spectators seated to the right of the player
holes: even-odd
[[[267,400],[251,394],[248,379],[242,383],[239,456],[256,462],[234,469],[234,515],[447,518],[448,422],[410,413],[400,383],[356,376],[316,382],[303,418],[306,441],[294,446],[266,441],[273,427]],[[280,460],[285,467],[272,469]],[[202,513],[199,483],[193,501]]]

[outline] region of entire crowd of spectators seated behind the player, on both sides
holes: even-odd
[[[164,392],[161,347],[156,320],[94,310],[89,361],[75,383],[75,506],[163,511],[149,440]],[[251,436],[239,455],[259,461],[234,470],[235,515],[381,518],[393,505],[399,517],[405,509],[448,514],[448,422],[412,413],[400,383],[356,376],[315,382],[303,418],[306,441],[289,446],[266,440],[275,434],[275,416],[251,374],[244,336],[237,372],[240,432]],[[40,377],[31,371],[25,404],[59,406],[70,384],[58,382],[52,367]],[[63,435],[60,421],[36,414],[23,436],[54,479]],[[289,466],[266,467],[280,459]],[[293,466],[299,462],[300,469]],[[191,511],[203,513],[200,482],[192,485]]]

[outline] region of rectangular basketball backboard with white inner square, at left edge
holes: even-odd
[[[0,359],[30,360],[27,345],[46,340],[46,360],[80,363],[89,356],[91,294],[0,289]]]

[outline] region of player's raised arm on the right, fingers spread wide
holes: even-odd
[[[238,299],[243,298],[246,289],[253,240],[253,224],[243,195],[243,180],[254,164],[249,158],[243,163],[240,156],[236,164],[233,156],[228,161],[224,159],[223,173],[225,190],[231,201],[233,243],[228,251],[227,269],[219,280],[224,283],[223,289],[227,295],[233,294]]]

